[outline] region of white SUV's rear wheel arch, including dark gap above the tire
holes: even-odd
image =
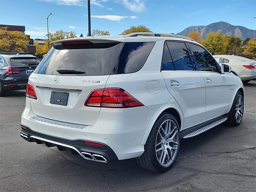
[[[164,112],[168,112],[170,114],[172,114],[176,120],[178,121],[179,127],[180,127],[180,131],[182,130],[183,124],[184,124],[184,116],[183,116],[183,112],[181,110],[181,108],[179,106],[176,106],[174,104],[166,104],[164,106],[162,106],[152,117],[150,123],[148,124],[148,128],[144,134],[144,138],[142,140],[142,145],[146,144],[146,141],[148,139],[148,136],[150,134],[150,131],[152,129],[152,127],[154,126],[154,123],[156,122],[156,120],[158,119],[158,117],[163,114]]]

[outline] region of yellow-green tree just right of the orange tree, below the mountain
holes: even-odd
[[[203,44],[213,55],[221,54],[224,51],[224,37],[220,32],[210,32],[206,34]]]

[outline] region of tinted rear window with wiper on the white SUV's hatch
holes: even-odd
[[[71,75],[109,75],[123,45],[123,43],[93,43],[54,46],[38,65],[35,73],[62,75],[57,70],[76,70],[85,74]]]

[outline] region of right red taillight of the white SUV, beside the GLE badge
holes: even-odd
[[[121,88],[96,89],[88,96],[85,106],[105,108],[130,108],[144,106]]]

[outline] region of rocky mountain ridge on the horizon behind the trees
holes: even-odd
[[[237,36],[242,39],[256,38],[256,30],[248,29],[243,26],[234,26],[223,21],[211,23],[207,26],[190,26],[177,34],[187,36],[189,32],[193,32],[193,31],[200,32],[203,39],[205,39],[206,34],[212,31],[221,32],[229,36]]]

